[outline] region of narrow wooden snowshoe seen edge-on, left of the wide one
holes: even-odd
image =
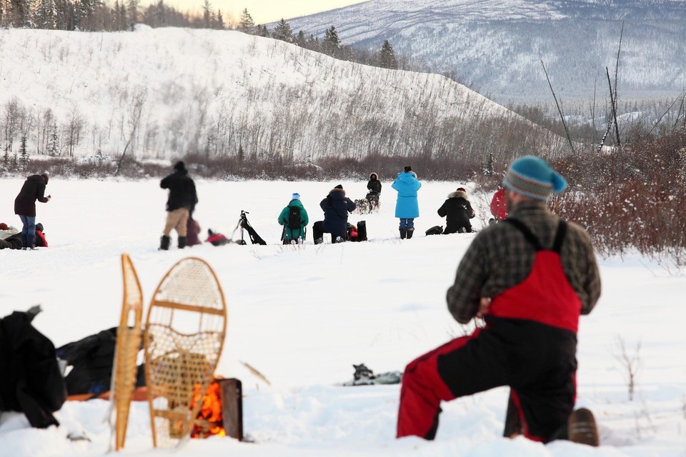
[[[124,301],[116,331],[114,367],[112,369],[111,400],[116,411],[115,450],[124,448],[126,426],[129,423],[129,406],[136,388],[136,358],[141,350],[141,316],[143,292],[136,269],[128,254],[121,254],[121,272],[124,275]]]

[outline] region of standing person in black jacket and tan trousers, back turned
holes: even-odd
[[[159,186],[162,189],[169,189],[169,198],[166,200],[166,224],[164,234],[159,240],[159,248],[163,251],[169,249],[169,234],[174,229],[179,236],[179,249],[183,249],[187,241],[188,218],[198,203],[195,183],[188,176],[186,165],[178,161],[174,165],[174,173],[162,179]]]

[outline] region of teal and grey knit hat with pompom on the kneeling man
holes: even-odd
[[[502,186],[531,199],[545,201],[551,194],[561,194],[567,189],[567,181],[540,157],[524,156],[509,166]]]

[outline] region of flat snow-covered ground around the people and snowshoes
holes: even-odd
[[[0,221],[19,226],[13,202],[22,182],[0,180]],[[276,221],[292,192],[302,195],[312,222],[322,218],[319,201],[336,184],[197,181],[196,219],[204,235],[213,229],[230,236],[244,209],[268,245],[204,243],[161,252],[166,191],[157,179],[54,177],[47,187],[52,200],[37,204],[50,247],[0,251],[0,316],[41,303],[44,312],[34,325],[61,346],[119,322],[121,253],[131,256],[146,303],[180,258],[197,256],[212,265],[229,313],[217,374],[242,380],[244,432],[254,443],[209,438],[177,451],[154,450],[147,403],[141,402],[133,406],[124,455],[686,456],[686,276],[632,254],[600,260],[602,297],[580,323],[577,406],[595,412],[600,448],[502,438],[506,388],[444,403],[436,441],[396,440],[399,386],[337,383],[352,378],[353,363],[402,371],[412,358],[464,331],[444,296],[474,234],[424,236],[443,224],[436,210],[464,183],[424,183],[412,240],[399,240],[395,192],[384,181],[379,214],[350,217],[367,221],[369,242],[332,245],[327,238],[314,246],[310,238],[304,246],[282,246]],[[342,184],[352,199],[365,194],[366,180]],[[480,228],[487,196],[471,195]],[[641,363],[633,401],[618,361],[619,337]],[[0,456],[104,455],[108,407],[102,400],[67,402],[56,413],[61,426],[45,430],[30,428],[21,413],[2,413]],[[71,431],[85,431],[91,441],[69,441]]]

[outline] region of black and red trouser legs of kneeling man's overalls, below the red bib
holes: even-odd
[[[510,386],[504,435],[550,441],[575,403],[576,335],[540,323],[489,319],[405,368],[397,436],[433,439],[441,401]]]

